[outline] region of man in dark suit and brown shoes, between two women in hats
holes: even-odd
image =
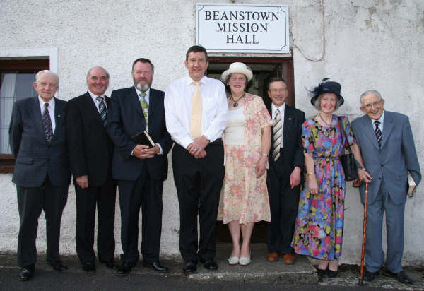
[[[300,177],[304,164],[302,147],[302,123],[305,113],[285,104],[288,88],[285,80],[271,78],[268,85],[271,105],[267,106],[273,118],[273,135],[267,184],[271,222],[269,222],[267,243],[268,261],[293,264],[295,255],[290,247],[295,230],[300,195]]]

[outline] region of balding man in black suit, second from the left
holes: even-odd
[[[107,135],[105,95],[109,73],[95,66],[87,74],[88,91],[68,102],[66,129],[76,192],[76,252],[83,270],[95,272],[94,225],[98,208],[98,259],[114,265],[116,184],[112,179],[113,143]]]

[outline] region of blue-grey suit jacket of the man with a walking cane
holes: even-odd
[[[372,204],[381,187],[396,204],[405,203],[408,171],[416,184],[421,180],[420,165],[413,142],[411,125],[406,115],[384,111],[382,147],[379,149],[370,117],[364,115],[352,122],[365,169],[371,174],[368,204]],[[365,203],[365,183],[360,187]]]

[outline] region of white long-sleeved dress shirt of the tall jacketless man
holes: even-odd
[[[194,89],[192,78],[186,76],[172,82],[165,91],[166,128],[172,139],[183,148],[194,141],[190,134],[192,100]],[[223,135],[228,122],[228,103],[225,87],[221,81],[204,76],[200,80],[201,135],[210,142]]]

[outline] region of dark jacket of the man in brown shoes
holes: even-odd
[[[272,117],[271,104],[267,105],[266,108]],[[269,171],[274,171],[273,174],[276,174],[276,177],[285,177],[287,181],[289,181],[290,174],[293,172],[295,166],[299,166],[303,169],[305,158],[303,156],[302,146],[302,124],[304,121],[304,112],[285,105],[283,148],[280,150],[280,158],[275,162],[272,155],[269,155]],[[279,163],[278,167],[276,167],[277,163]],[[275,173],[277,169],[279,169],[278,171],[283,170],[283,172]]]

